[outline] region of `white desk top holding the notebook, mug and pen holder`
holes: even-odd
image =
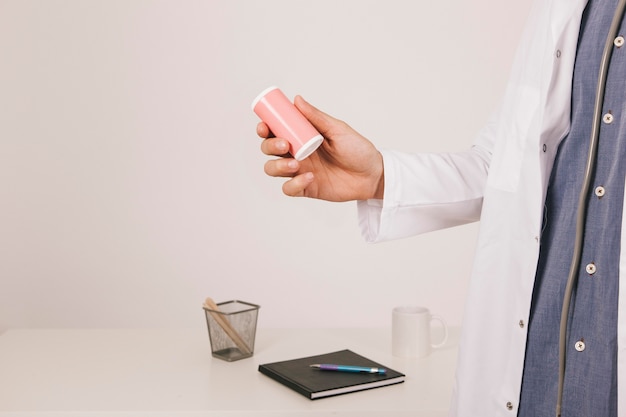
[[[38,329],[0,335],[0,417],[446,416],[458,329],[425,359],[391,355],[389,329],[263,329],[252,358],[211,356],[206,329]],[[406,382],[311,401],[260,363],[352,349]]]

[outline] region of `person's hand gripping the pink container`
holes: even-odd
[[[383,158],[374,145],[346,123],[318,110],[302,97],[297,96],[294,104],[324,136],[324,142],[308,158],[296,161],[288,153],[287,140],[272,137],[268,126],[259,123],[257,134],[265,139],[261,151],[281,156],[266,162],[265,173],[291,178],[283,184],[283,192],[289,196],[327,201],[382,198]]]

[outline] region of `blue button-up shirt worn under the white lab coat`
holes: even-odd
[[[576,212],[604,43],[617,0],[590,0],[572,84],[571,130],[561,143],[546,196],[544,230],[520,398],[520,417],[553,416],[559,322],[574,246]],[[624,22],[618,34],[625,33]],[[626,45],[615,40],[603,103],[597,163],[578,283],[570,309],[563,417],[617,417],[617,295],[626,174]]]

